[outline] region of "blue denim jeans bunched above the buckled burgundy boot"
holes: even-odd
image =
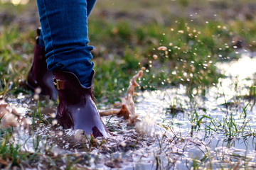
[[[39,45],[45,47],[49,70],[73,72],[90,85],[93,47],[87,45],[87,18],[96,0],[37,0],[41,23]]]

